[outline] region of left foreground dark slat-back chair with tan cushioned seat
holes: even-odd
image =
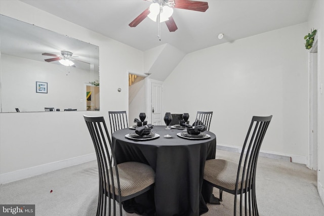
[[[121,202],[136,197],[154,186],[155,172],[147,164],[140,162],[124,162],[114,165],[115,154],[103,117],[85,116],[98,162],[99,198],[97,216],[108,215],[113,210],[116,213],[116,202],[119,202],[119,212],[122,215]],[[108,199],[107,199],[108,197]],[[111,206],[111,200],[113,205]]]

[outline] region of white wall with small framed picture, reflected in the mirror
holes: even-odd
[[[69,72],[70,71],[70,72]],[[1,56],[2,112],[38,112],[44,107],[87,110],[85,83],[89,70],[30,59]],[[99,80],[95,73],[94,80]],[[36,81],[48,82],[48,93],[36,93]],[[81,102],[83,100],[83,102]]]

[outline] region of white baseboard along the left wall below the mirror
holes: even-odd
[[[13,172],[7,172],[5,174],[0,175],[0,184],[5,184],[9,182],[30,178],[33,176],[45,174],[47,172],[55,171],[69,166],[74,166],[80,163],[85,163],[96,159],[97,159],[96,154],[92,153],[92,154],[87,154],[79,157],[69,158],[66,160],[33,166],[26,169],[20,169]]]

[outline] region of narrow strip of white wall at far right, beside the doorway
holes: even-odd
[[[317,73],[318,86],[324,86],[324,1],[315,1],[308,20],[308,31],[310,28],[317,29]],[[317,163],[317,189],[324,203],[324,90],[318,89],[318,163]]]

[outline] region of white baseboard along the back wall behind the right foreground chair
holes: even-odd
[[[225,144],[217,144],[216,149],[230,151],[230,152],[237,152],[237,153],[240,153],[242,150],[242,148],[239,146],[229,146],[229,145],[225,145]],[[263,150],[260,150],[259,155],[261,157],[285,160],[285,161],[290,161],[290,162],[294,162],[294,163],[301,163],[301,164],[307,163],[306,156],[289,155],[289,154],[284,154],[284,153],[279,153],[279,152],[263,151]]]

